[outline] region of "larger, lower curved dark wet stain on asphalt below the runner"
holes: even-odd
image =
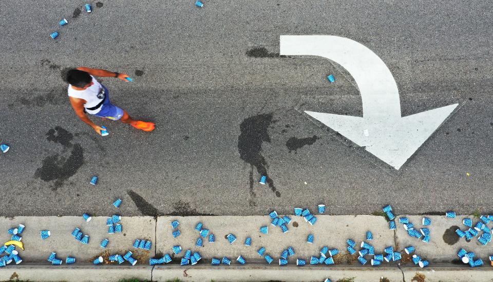
[[[45,182],[55,180],[55,188],[61,187],[63,182],[77,173],[84,164],[84,150],[80,144],[74,144],[70,156],[65,159],[59,154],[47,156],[41,168],[36,169],[34,177]]]

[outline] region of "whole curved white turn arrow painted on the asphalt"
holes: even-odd
[[[279,54],[321,56],[344,67],[361,93],[363,117],[305,112],[397,170],[459,105],[401,116],[392,73],[373,51],[349,38],[281,35]]]

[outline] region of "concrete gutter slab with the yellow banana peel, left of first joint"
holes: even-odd
[[[19,224],[26,226],[22,235],[24,251],[17,248],[19,255],[23,258],[23,263],[37,263],[49,265],[47,261],[51,252],[56,253],[56,257],[62,259],[65,264],[67,256],[76,259],[75,265],[90,264],[92,258],[103,255],[106,258],[109,254],[125,254],[127,250],[134,252],[134,258],[139,259],[139,263],[147,263],[149,255],[155,254],[155,228],[156,220],[150,216],[122,217],[122,233],[108,234],[105,216],[92,217],[91,221],[86,222],[82,216],[17,216],[13,218],[0,218],[0,242],[5,243],[11,239],[11,234],[7,229],[17,227]],[[83,245],[71,235],[73,229],[79,227],[81,232],[89,235],[89,244]],[[51,236],[41,239],[41,230],[50,230]],[[103,249],[100,247],[101,241],[108,238],[108,246]],[[153,248],[149,251],[132,248],[136,238],[150,239]],[[103,254],[103,252],[105,252]],[[7,266],[11,267],[10,265]],[[59,266],[57,266],[59,267]]]

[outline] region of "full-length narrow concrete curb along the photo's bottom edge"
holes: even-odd
[[[91,281],[110,282],[137,278],[147,281],[166,281],[176,278],[182,281],[203,282],[214,280],[234,282],[261,281],[338,281],[354,278],[352,282],[379,282],[385,277],[388,282],[491,282],[493,274],[489,268],[470,269],[459,266],[442,266],[422,270],[405,267],[361,267],[361,266],[306,266],[279,267],[251,264],[249,266],[39,266],[18,265],[0,269],[0,280],[29,280],[35,282]],[[414,280],[413,280],[414,278]],[[416,279],[419,278],[419,279]],[[422,279],[422,280],[420,280]]]

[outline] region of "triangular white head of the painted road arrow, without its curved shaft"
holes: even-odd
[[[358,116],[305,111],[344,135],[385,163],[400,169],[437,130],[459,104],[397,118],[365,119]]]

